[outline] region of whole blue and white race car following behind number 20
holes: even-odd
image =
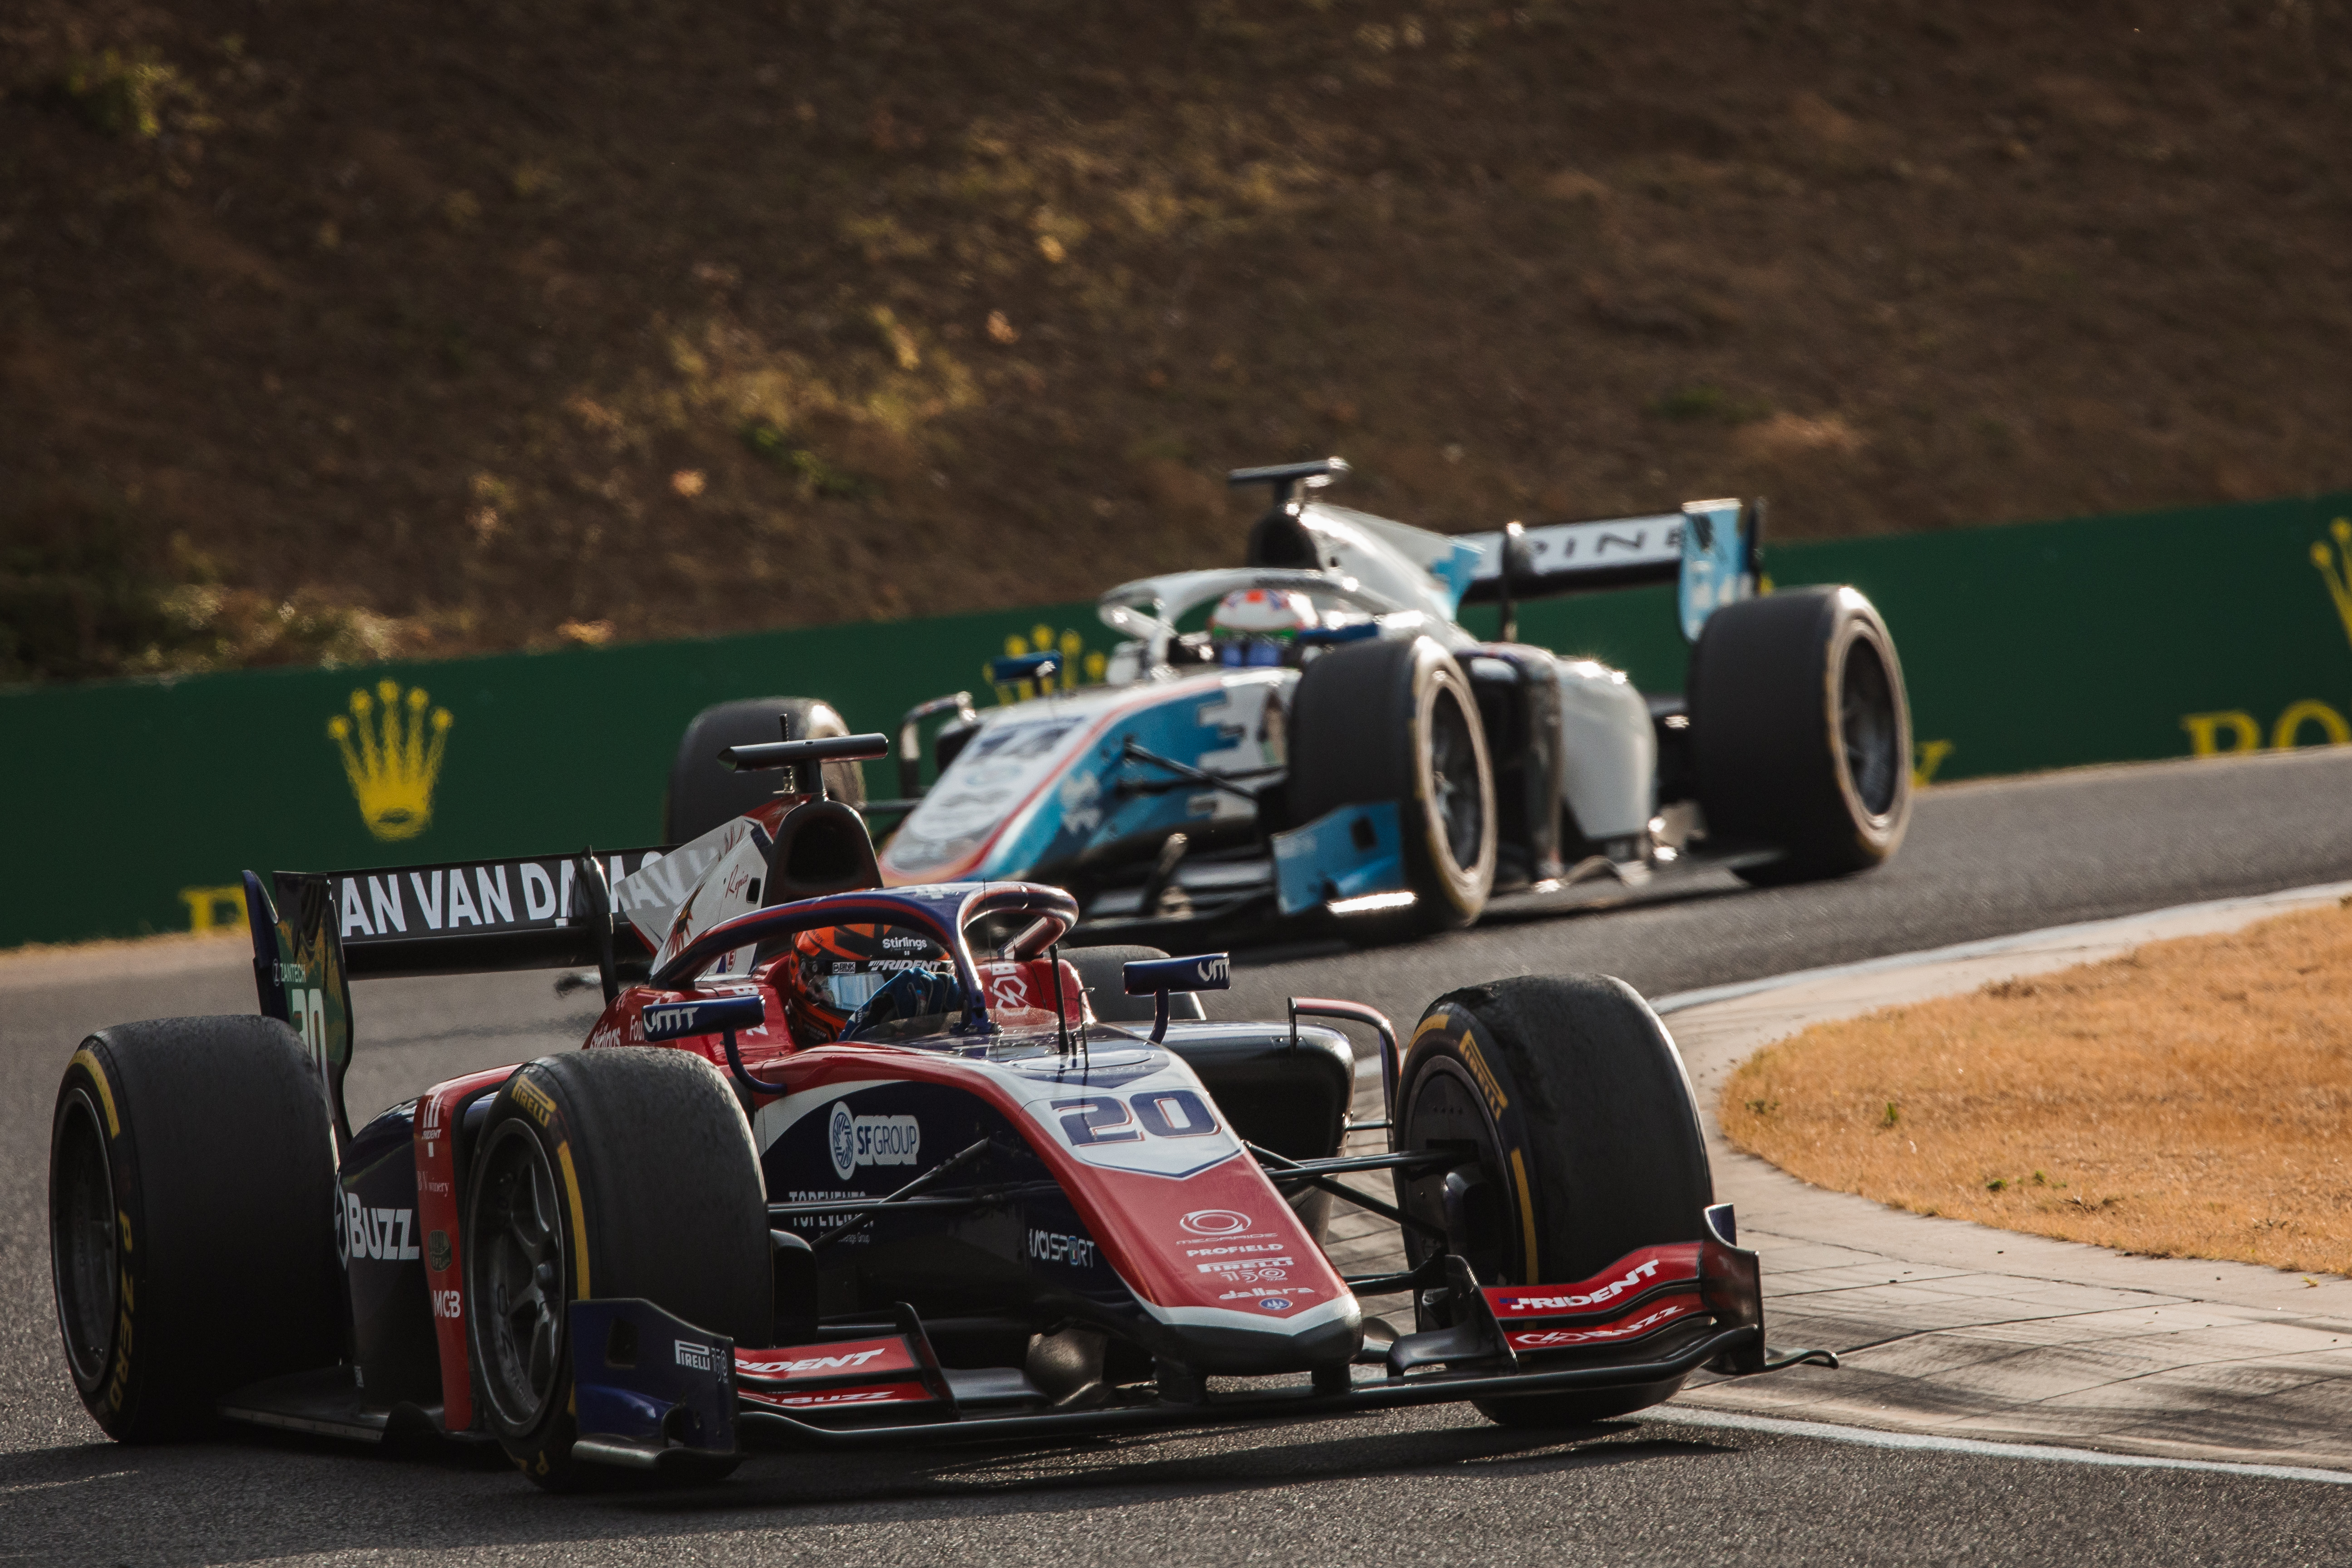
[[[1056,656],[1028,654],[995,677],[1042,696],[913,710],[884,879],[1049,882],[1096,933],[1162,940],[1254,917],[1404,933],[1465,926],[1496,893],[1677,865],[1839,877],[1903,842],[1893,637],[1853,588],[1757,595],[1757,503],[1444,536],[1315,496],[1345,473],[1235,470],[1272,487],[1247,564],[1105,592],[1124,642],[1101,684],[1056,689]],[[1691,642],[1684,693],[1515,639],[1519,599],[1663,581]],[[1456,621],[1465,599],[1501,604],[1501,639]],[[779,715],[844,729],[809,698],[706,712],[673,771],[670,842],[743,809],[715,755],[774,738]]]

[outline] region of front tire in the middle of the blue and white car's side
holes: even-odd
[[[1289,816],[1397,804],[1414,905],[1378,940],[1468,926],[1494,891],[1494,762],[1461,665],[1430,637],[1324,654],[1289,712]]]

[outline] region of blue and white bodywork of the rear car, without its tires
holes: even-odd
[[[1392,809],[1296,820],[1282,795],[1303,665],[1367,637],[1432,637],[1468,675],[1494,757],[1498,893],[1639,882],[1698,849],[1703,825],[1675,757],[1661,766],[1661,748],[1682,743],[1679,696],[1644,696],[1595,661],[1484,642],[1456,616],[1465,599],[1672,581],[1696,639],[1715,609],[1755,592],[1755,505],[1698,501],[1470,536],[1322,501],[1277,515],[1294,559],[1312,564],[1181,571],[1105,592],[1098,614],[1122,642],[1101,686],[1070,684],[1049,656],[1000,661],[1000,677],[1033,696],[953,731],[936,783],[901,802],[910,809],[884,842],[884,879],[1054,882],[1094,929],[1298,917],[1404,889]],[[1289,649],[1181,630],[1244,588],[1303,592],[1322,625]],[[1185,842],[1169,853],[1174,835]]]

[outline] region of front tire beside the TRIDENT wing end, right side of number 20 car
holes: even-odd
[[[1623,980],[1522,976],[1439,997],[1414,1030],[1397,1103],[1399,1150],[1475,1157],[1399,1178],[1397,1204],[1442,1227],[1479,1284],[1590,1279],[1637,1248],[1708,1237],[1715,1180],[1691,1079],[1665,1025]],[[1414,1265],[1437,1246],[1406,1232]],[[1477,1408],[1508,1427],[1581,1425],[1679,1387],[1672,1378]]]

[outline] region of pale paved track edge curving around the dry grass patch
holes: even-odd
[[[1717,1199],[1764,1253],[1776,1345],[1837,1373],[1703,1382],[1679,1406],[1955,1443],[2352,1472],[2352,1281],[2136,1258],[1893,1211],[1729,1147],[1731,1070],[1806,1025],[2232,931],[2352,896],[2286,889],[1661,997],[1698,1088]]]

